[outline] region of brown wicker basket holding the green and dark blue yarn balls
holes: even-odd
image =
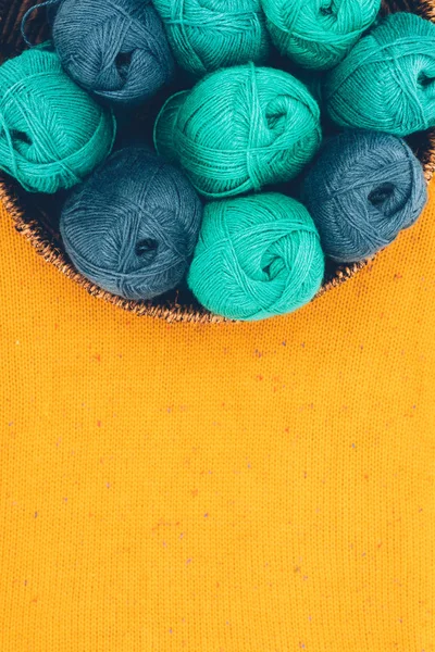
[[[24,49],[21,36],[21,18],[24,12],[36,3],[36,0],[0,0],[1,60],[14,57]],[[435,21],[435,0],[388,0],[383,12],[412,11],[421,16]],[[27,25],[27,33],[33,42],[41,41],[48,36],[45,12],[34,12]],[[156,106],[161,98],[157,98]],[[152,112],[152,106],[147,110]],[[148,120],[148,122],[150,122]],[[428,181],[435,171],[435,129],[419,133],[409,139],[409,143],[424,167]],[[199,305],[187,288],[179,288],[159,297],[153,301],[127,301],[111,294],[91,284],[72,265],[65,254],[59,233],[59,208],[62,193],[58,196],[30,195],[24,192],[11,177],[0,173],[0,199],[11,214],[15,228],[23,234],[46,261],[53,264],[73,281],[84,287],[90,294],[99,297],[124,310],[138,315],[150,315],[167,322],[224,322],[223,317],[211,314]],[[335,265],[327,262],[325,279],[318,298],[357,274],[368,261],[352,265]]]

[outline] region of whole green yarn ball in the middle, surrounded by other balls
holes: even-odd
[[[211,198],[289,180],[320,141],[320,110],[307,87],[253,64],[216,71],[173,96],[154,125],[157,150]]]

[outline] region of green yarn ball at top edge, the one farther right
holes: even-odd
[[[327,70],[375,21],[381,0],[262,0],[272,40],[303,67]]]

